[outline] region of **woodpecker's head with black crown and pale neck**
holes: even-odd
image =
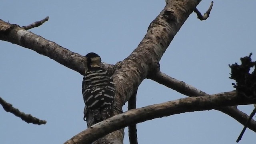
[[[86,54],[86,60],[87,60],[87,67],[100,67],[101,58],[98,54],[95,54],[94,52],[90,52]]]

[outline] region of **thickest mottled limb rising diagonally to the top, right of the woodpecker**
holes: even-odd
[[[114,66],[112,78],[116,86],[115,105],[118,109],[122,109],[148,73],[154,70],[155,64],[159,63],[166,48],[199,2],[200,0],[169,1],[152,21],[138,47]],[[114,111],[114,114],[118,112]],[[123,130],[119,130],[120,139],[123,139],[123,133]],[[122,141],[120,139],[119,142]]]

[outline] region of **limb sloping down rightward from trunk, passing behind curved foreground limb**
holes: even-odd
[[[177,80],[175,78],[172,78],[162,72],[160,70],[156,71],[155,73],[152,73],[148,76],[151,80],[154,80],[155,82],[158,82],[159,84],[162,84],[168,88],[171,88],[173,90],[176,90],[177,92],[180,92],[186,96],[207,96],[206,92],[203,92],[202,90],[198,90],[194,86],[191,86],[189,84],[186,84],[183,81]],[[219,110],[221,112],[224,112],[225,114],[228,114],[241,124],[245,125],[246,121],[248,120],[249,116],[245,114],[244,112],[241,112],[235,107],[223,107],[223,108],[216,108],[216,110]],[[250,123],[248,124],[248,128],[256,132],[256,121],[250,120]]]

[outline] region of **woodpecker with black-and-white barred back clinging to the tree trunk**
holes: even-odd
[[[98,54],[86,54],[88,70],[82,82],[84,103],[94,116],[94,124],[110,117],[115,86],[112,77],[104,68],[100,67],[101,58]]]

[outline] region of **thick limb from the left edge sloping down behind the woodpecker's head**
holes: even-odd
[[[34,50],[38,54],[47,56],[56,62],[84,75],[84,56],[59,46],[55,42],[46,40],[32,32],[24,30],[18,25],[0,20],[0,40],[17,44]],[[112,65],[102,63],[103,68],[112,74]]]

